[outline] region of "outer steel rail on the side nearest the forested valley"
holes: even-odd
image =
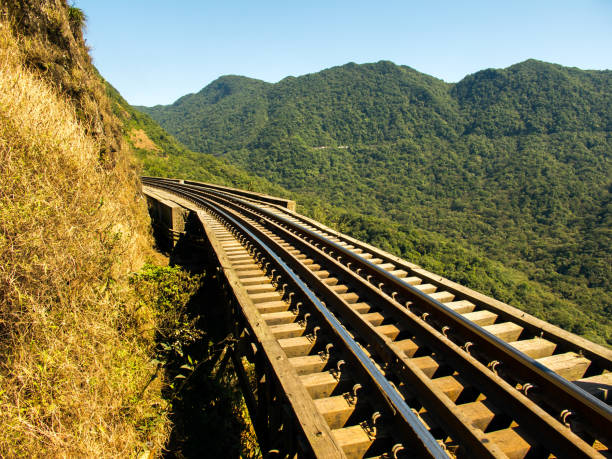
[[[157,183],[159,183],[159,182],[157,182]],[[176,185],[176,183],[174,183],[173,185]],[[200,188],[200,187],[197,187],[197,188]],[[199,191],[199,190],[194,190],[190,186],[183,186],[183,187],[181,187],[181,189],[183,189],[184,191],[186,191],[186,190]],[[231,196],[231,195],[228,195],[226,193],[220,193],[220,192],[209,191],[209,190],[207,190],[206,192],[209,193],[209,194],[218,196],[218,197],[224,197],[224,198],[227,198],[227,199],[232,199],[234,201],[237,201],[238,203],[240,203],[243,206],[248,206],[248,207],[251,207],[251,208],[253,206],[251,203],[245,202],[243,199],[236,198],[235,196]],[[276,220],[276,221],[281,221],[281,222],[283,222],[285,225],[287,225],[289,227],[298,229],[303,234],[307,234],[308,236],[310,236],[310,237],[312,237],[312,238],[314,238],[316,240],[322,241],[327,246],[333,247],[336,251],[338,251],[340,253],[343,253],[343,254],[345,254],[346,256],[348,256],[348,257],[350,257],[352,259],[358,257],[358,255],[354,254],[349,249],[344,248],[342,245],[337,244],[336,242],[331,241],[331,240],[329,240],[329,239],[327,239],[325,237],[322,237],[318,233],[316,233],[316,232],[314,232],[314,231],[312,231],[312,230],[310,230],[308,228],[305,228],[305,227],[303,227],[303,226],[301,226],[299,224],[296,224],[295,222],[291,222],[291,221],[289,221],[289,220],[287,220],[287,219],[285,219],[283,217],[280,217],[277,214],[274,214],[273,212],[267,211],[265,209],[257,208],[256,210],[257,210],[257,212],[260,212],[261,214],[264,214],[268,218],[271,218],[271,219]],[[383,279],[386,279],[392,285],[395,285],[397,287],[401,287],[401,288],[409,291],[411,293],[411,296],[412,297],[416,297],[416,299],[420,303],[425,303],[426,305],[432,307],[433,310],[437,310],[437,311],[443,312],[446,316],[449,316],[451,319],[453,319],[454,322],[456,322],[456,323],[458,322],[460,325],[465,326],[465,328],[470,330],[473,335],[477,335],[480,338],[484,338],[485,341],[489,342],[490,344],[493,344],[494,348],[501,349],[504,352],[504,356],[506,354],[510,354],[511,356],[514,357],[515,360],[519,360],[519,361],[522,360],[523,362],[526,362],[527,366],[531,367],[531,371],[532,372],[535,372],[537,374],[543,375],[543,377],[545,378],[546,381],[552,382],[557,388],[560,388],[563,392],[566,392],[566,393],[569,392],[569,394],[572,395],[572,396],[573,395],[577,395],[576,398],[578,398],[578,402],[580,402],[580,398],[586,399],[587,408],[589,408],[591,410],[591,412],[589,412],[589,411],[587,411],[585,409],[577,408],[577,405],[575,403],[571,403],[571,402],[567,401],[567,397],[566,397],[565,400],[562,400],[562,403],[566,403],[566,404],[570,403],[571,407],[574,410],[576,410],[576,411],[578,411],[580,413],[580,418],[581,418],[580,421],[583,424],[591,424],[591,425],[594,424],[594,423],[588,422],[589,415],[592,414],[592,411],[595,411],[596,414],[599,413],[600,415],[603,415],[603,419],[600,416],[600,419],[598,420],[598,421],[603,422],[603,424],[600,424],[601,429],[593,429],[593,430],[595,430],[595,431],[597,431],[597,430],[604,431],[604,435],[599,435],[598,438],[599,439],[603,439],[604,442],[606,441],[606,432],[609,433],[609,426],[611,425],[610,424],[610,409],[609,409],[609,407],[607,405],[603,404],[602,402],[600,402],[598,399],[596,399],[595,397],[591,396],[590,394],[582,391],[582,389],[578,388],[576,385],[570,383],[569,381],[565,380],[564,378],[559,377],[558,375],[553,373],[548,368],[546,368],[543,365],[539,364],[538,362],[534,361],[533,359],[531,359],[530,357],[526,356],[525,354],[522,354],[520,351],[516,350],[512,346],[509,346],[505,342],[499,340],[499,338],[495,337],[494,335],[491,335],[486,330],[483,330],[481,327],[479,327],[479,326],[473,324],[472,322],[468,321],[467,319],[463,318],[460,314],[457,314],[455,311],[452,311],[450,308],[445,306],[443,303],[440,303],[437,300],[435,300],[433,298],[430,298],[428,295],[423,294],[418,289],[414,288],[413,286],[411,286],[409,284],[406,284],[400,278],[397,278],[397,277],[393,276],[388,271],[378,267],[374,263],[371,263],[368,260],[363,259],[362,257],[359,257],[359,258],[361,258],[360,262],[368,269],[369,272],[375,273],[379,277],[381,277]],[[490,350],[489,350],[489,352],[490,352]],[[531,375],[527,375],[525,378],[529,382],[533,383],[533,381],[534,381],[534,379],[531,377]],[[531,378],[531,379],[529,380],[529,378]],[[542,382],[540,382],[540,381],[536,381],[536,382],[539,382],[540,384],[542,384]],[[555,395],[558,395],[558,394],[555,394]],[[591,404],[590,407],[588,406],[589,404]],[[565,406],[567,406],[567,405],[565,405]],[[585,419],[583,419],[585,417],[587,419],[586,423],[584,422]]]

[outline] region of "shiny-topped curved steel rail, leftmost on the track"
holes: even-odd
[[[374,365],[372,360],[365,354],[359,344],[357,344],[357,342],[342,326],[338,319],[318,299],[316,294],[310,290],[310,288],[293,272],[293,270],[260,239],[260,237],[253,233],[252,230],[256,229],[252,226],[250,229],[247,228],[243,224],[244,222],[240,223],[214,203],[205,202],[201,198],[196,198],[196,200],[197,203],[204,205],[205,207],[212,209],[214,212],[221,215],[223,219],[230,222],[234,228],[239,229],[240,232],[242,232],[251,242],[259,246],[260,250],[265,253],[265,256],[270,257],[274,263],[280,269],[282,269],[284,275],[292,280],[303,296],[308,298],[309,302],[316,308],[319,315],[327,322],[329,328],[335,333],[336,338],[340,340],[343,346],[349,350],[350,355],[357,360],[358,365],[361,366],[361,372],[368,375],[373,385],[380,391],[380,393],[383,394],[383,399],[388,404],[391,412],[394,413],[393,416],[396,419],[399,419],[399,422],[402,425],[407,426],[410,429],[414,437],[413,444],[410,446],[416,446],[418,450],[427,457],[448,458],[448,455],[442,449],[440,444],[424,427],[412,409],[407,405],[397,390],[389,383],[381,371]],[[261,234],[259,236],[261,236]],[[404,432],[406,431],[405,428],[403,430]],[[414,442],[414,440],[416,440],[416,442]]]

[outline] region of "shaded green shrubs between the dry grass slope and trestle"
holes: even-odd
[[[152,264],[130,278],[138,305],[156,312],[152,362],[165,382],[172,432],[164,449],[172,457],[257,457],[236,377],[220,370],[226,344],[220,319],[206,315],[223,310],[215,282],[206,274]]]

